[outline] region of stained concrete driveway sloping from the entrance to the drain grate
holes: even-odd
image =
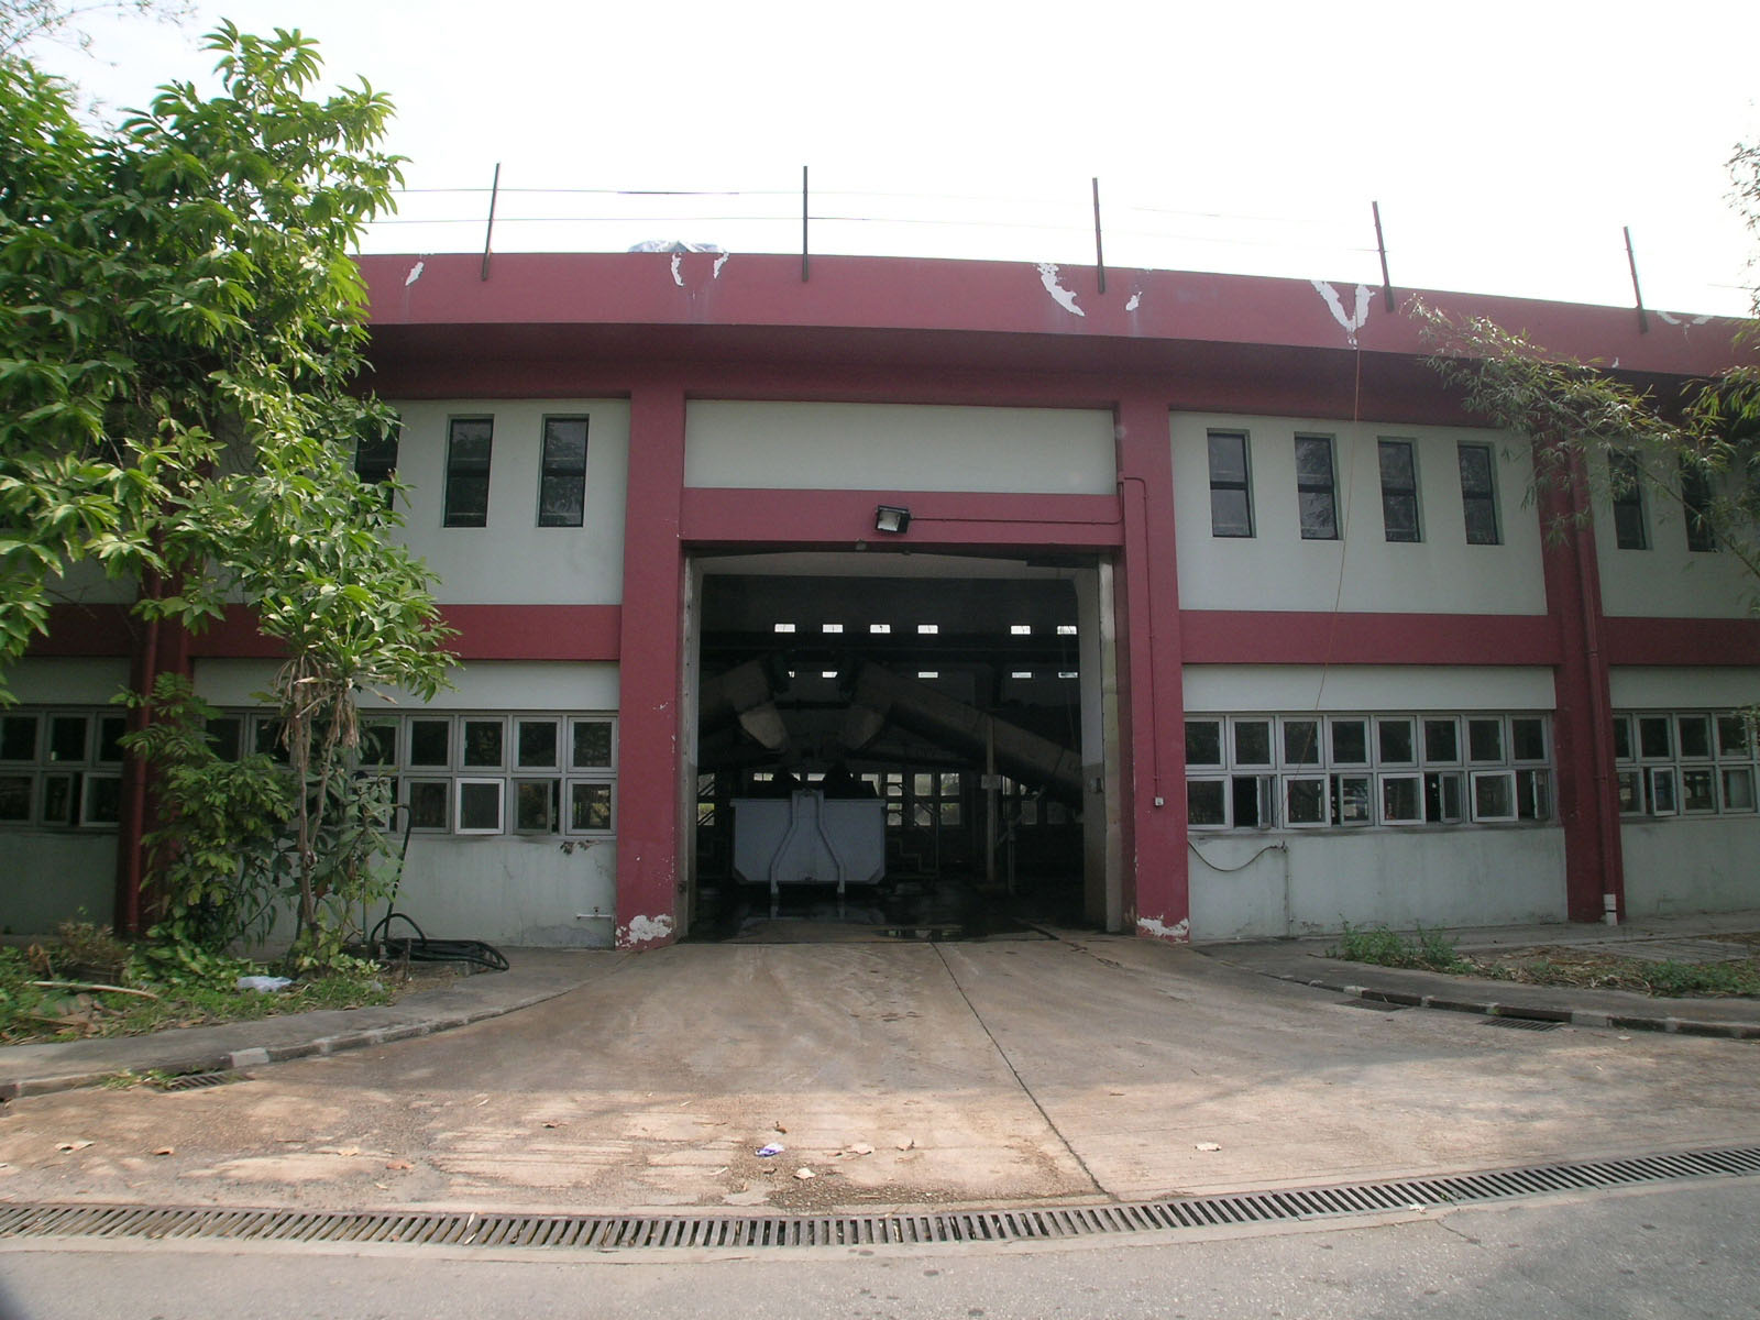
[[[442,1035],[187,1093],[26,1095],[0,1195],[1068,1202],[1760,1140],[1755,1042],[1366,1012],[1132,938],[572,957],[577,989]]]

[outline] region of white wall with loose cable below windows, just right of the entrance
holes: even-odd
[[[1267,831],[1193,845],[1193,940],[1327,935],[1345,922],[1412,929],[1566,915],[1558,827]],[[1267,845],[1281,847],[1260,852]]]

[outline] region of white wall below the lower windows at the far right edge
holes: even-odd
[[[1635,820],[1621,824],[1619,840],[1633,917],[1760,908],[1756,817]]]

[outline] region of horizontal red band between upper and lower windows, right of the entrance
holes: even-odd
[[[1554,665],[1545,614],[1325,614],[1188,609],[1188,665]]]

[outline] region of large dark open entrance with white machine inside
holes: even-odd
[[[801,551],[690,581],[692,936],[1118,928],[1107,565]]]

